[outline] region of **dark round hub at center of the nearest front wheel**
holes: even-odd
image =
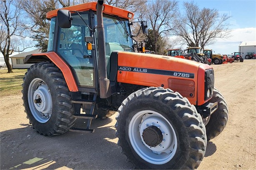
[[[163,141],[162,131],[156,126],[148,126],[143,130],[142,138],[151,147],[156,147]]]

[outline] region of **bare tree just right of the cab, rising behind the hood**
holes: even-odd
[[[156,54],[164,54],[163,42],[167,43],[167,35],[175,28],[174,18],[178,9],[178,2],[175,0],[156,0],[147,4],[146,20],[151,29],[148,35],[148,43],[151,43]]]

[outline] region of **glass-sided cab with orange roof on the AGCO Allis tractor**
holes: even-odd
[[[133,13],[126,10],[121,12],[115,7],[104,5],[103,25],[105,37],[97,37],[97,2],[90,2],[86,6],[75,5],[61,10],[47,13],[50,22],[50,37],[48,52],[56,52],[73,70],[79,87],[93,88],[98,75],[98,47],[99,39],[105,43],[105,59],[107,76],[110,74],[110,55],[113,51],[134,52],[131,34],[132,25],[129,19]],[[109,15],[109,11],[112,11]],[[146,29],[143,22],[143,32]]]

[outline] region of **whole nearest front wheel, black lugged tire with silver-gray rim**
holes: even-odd
[[[118,109],[116,135],[121,153],[138,169],[195,169],[206,150],[200,114],[170,89],[136,91]]]

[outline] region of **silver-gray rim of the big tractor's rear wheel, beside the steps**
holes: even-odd
[[[37,100],[37,101],[36,101]],[[47,84],[35,78],[28,87],[28,105],[36,121],[46,123],[53,110],[53,101]]]

